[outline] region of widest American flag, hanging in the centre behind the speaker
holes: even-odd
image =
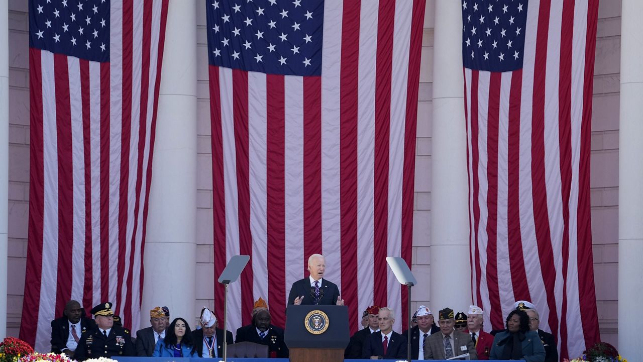
[[[326,256],[350,326],[406,291],[386,256],[411,262],[415,124],[424,0],[206,2],[215,276],[230,285],[231,330],[267,300],[284,325],[287,293]],[[216,314],[223,289],[215,283]]]

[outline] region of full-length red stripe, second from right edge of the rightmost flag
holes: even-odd
[[[574,2],[563,2],[563,19],[574,19]],[[574,22],[561,24],[560,73],[558,82],[558,137],[561,176],[561,201],[563,206],[563,301],[561,303],[561,357],[568,357],[567,350],[567,272],[569,269],[569,200],[572,188],[572,46]],[[557,340],[556,337],[554,337]]]

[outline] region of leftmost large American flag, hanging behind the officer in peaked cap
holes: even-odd
[[[30,0],[30,210],[20,337],[66,301],[138,329],[167,0]]]

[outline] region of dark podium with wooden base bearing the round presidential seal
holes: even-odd
[[[284,341],[292,362],[341,362],[349,339],[349,312],[343,305],[286,309]]]

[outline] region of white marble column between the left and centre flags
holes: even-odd
[[[197,173],[197,6],[170,0],[152,164],[141,327],[151,308],[170,319],[195,316]],[[192,324],[192,323],[190,323]]]

